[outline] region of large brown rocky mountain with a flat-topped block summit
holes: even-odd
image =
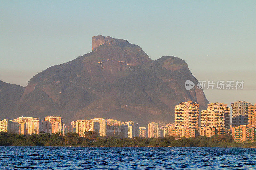
[[[186,80],[197,84],[184,60],[151,60],[127,40],[99,35],[92,37],[92,52],[31,78],[15,106],[0,110],[0,117],[60,115],[68,124],[93,117],[134,120],[142,126],[170,123],[179,102],[197,101],[201,109],[209,103],[201,89],[186,90]]]

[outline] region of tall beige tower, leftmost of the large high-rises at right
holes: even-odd
[[[181,102],[175,106],[174,126],[198,130],[199,104],[193,101]]]

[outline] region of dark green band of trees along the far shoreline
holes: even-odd
[[[0,133],[0,146],[116,146],[116,147],[256,147],[256,142],[237,143],[230,134],[212,137],[197,136],[175,139],[173,136],[158,138],[121,138],[120,136],[100,137],[94,132],[85,132],[84,137],[76,133],[40,133],[19,135]]]

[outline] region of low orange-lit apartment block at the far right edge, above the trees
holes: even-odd
[[[236,142],[255,142],[256,127],[249,125],[232,127],[232,137]]]

